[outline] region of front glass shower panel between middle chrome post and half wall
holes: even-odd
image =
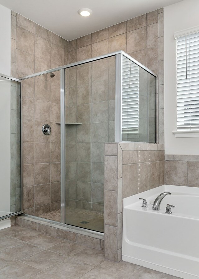
[[[65,223],[104,231],[104,146],[115,142],[115,56],[65,69]]]

